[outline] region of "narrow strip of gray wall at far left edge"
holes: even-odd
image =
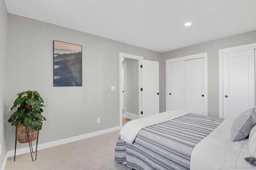
[[[4,0],[0,0],[0,144],[2,154],[0,155],[0,168],[6,156],[6,142],[4,129],[4,110],[6,98],[6,53],[7,53],[7,23],[8,13]]]

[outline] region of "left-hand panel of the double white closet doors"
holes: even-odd
[[[185,110],[185,61],[168,63],[166,69],[166,110]]]

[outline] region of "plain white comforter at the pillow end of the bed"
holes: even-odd
[[[248,137],[232,142],[230,128],[234,119],[224,121],[194,147],[190,170],[252,169],[244,157],[251,156]]]

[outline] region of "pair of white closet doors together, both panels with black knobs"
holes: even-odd
[[[166,60],[166,111],[207,115],[207,53]]]

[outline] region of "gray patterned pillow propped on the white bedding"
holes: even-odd
[[[256,125],[255,108],[242,112],[232,124],[230,131],[231,140],[235,142],[246,138],[254,125]]]

